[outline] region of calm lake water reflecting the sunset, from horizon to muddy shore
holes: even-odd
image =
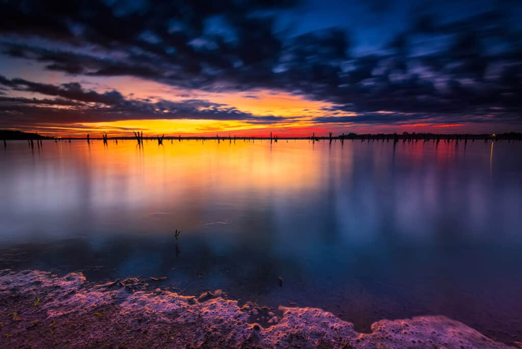
[[[522,144],[164,143],[8,142],[0,267],[522,340]]]

